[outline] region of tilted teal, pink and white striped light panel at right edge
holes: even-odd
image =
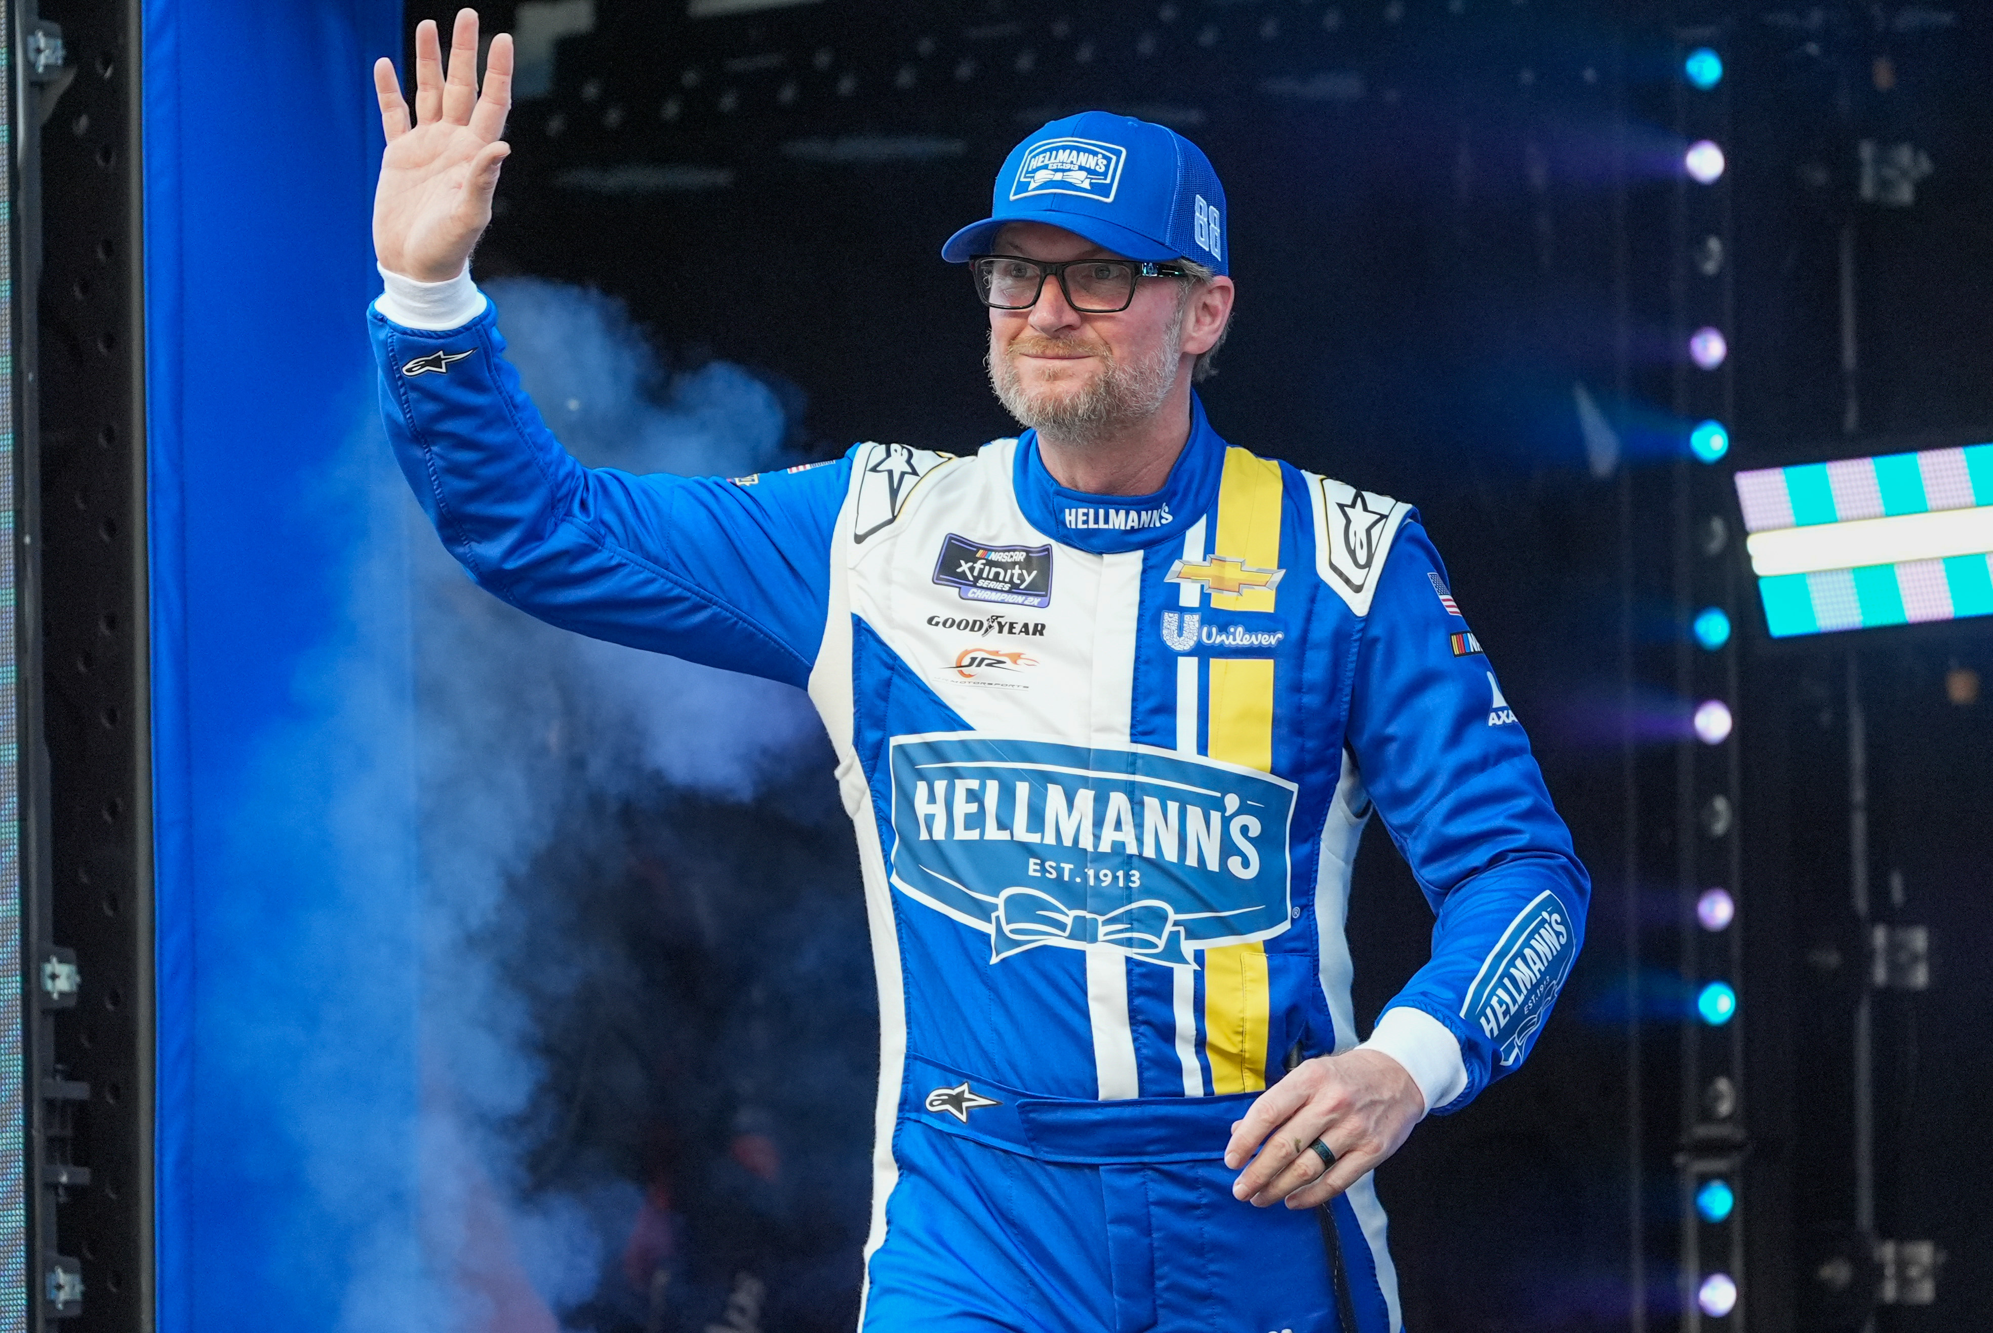
[[[1993,444],[1738,472],[1774,638],[1993,616]]]

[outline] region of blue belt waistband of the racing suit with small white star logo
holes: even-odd
[[[899,1118],[1040,1162],[1222,1162],[1232,1122],[1254,1098],[1042,1098],[909,1052]]]

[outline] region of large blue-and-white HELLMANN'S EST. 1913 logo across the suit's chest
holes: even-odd
[[[1293,783],[1146,745],[973,731],[893,741],[893,883],[991,962],[1106,944],[1144,962],[1287,929]]]

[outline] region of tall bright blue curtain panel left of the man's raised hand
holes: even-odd
[[[425,1327],[393,1311],[421,944],[365,337],[401,4],[143,24],[157,1327]]]

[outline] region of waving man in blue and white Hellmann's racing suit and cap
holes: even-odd
[[[1395,1331],[1371,1170],[1527,1056],[1590,889],[1417,516],[1206,420],[1204,153],[1052,122],[945,245],[1022,436],[588,470],[468,277],[512,68],[480,96],[476,46],[464,10],[444,78],[419,28],[413,128],[377,66],[389,434],[490,592],[815,699],[879,972],[863,1327]],[[1439,921],[1359,1044],[1371,809]]]

